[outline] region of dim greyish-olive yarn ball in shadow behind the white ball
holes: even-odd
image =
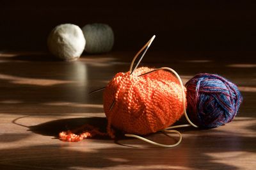
[[[82,28],[86,40],[85,51],[91,54],[109,52],[114,45],[114,33],[107,24],[87,24]]]

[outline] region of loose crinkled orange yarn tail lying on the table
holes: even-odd
[[[79,131],[83,131],[83,133],[77,135],[76,133]],[[74,130],[60,132],[59,139],[64,142],[79,142],[95,135],[108,135],[108,133],[100,132],[99,129],[86,124]]]

